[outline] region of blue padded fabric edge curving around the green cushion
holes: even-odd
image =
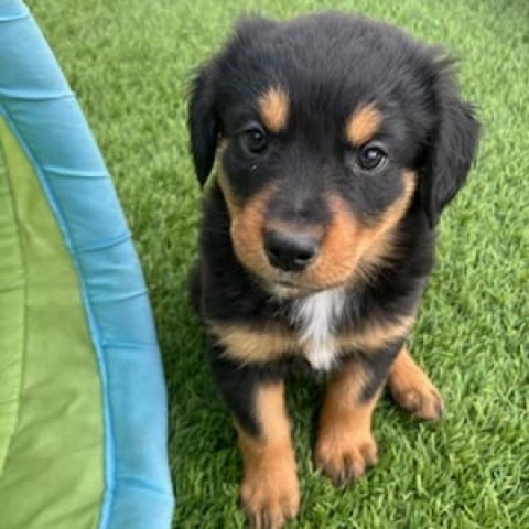
[[[0,114],[33,162],[79,276],[104,391],[99,529],[166,529],[166,395],[140,262],[83,112],[20,0],[0,0]]]

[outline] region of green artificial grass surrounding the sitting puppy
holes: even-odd
[[[438,267],[412,336],[447,404],[418,424],[382,399],[379,465],[335,488],[311,464],[312,382],[289,391],[299,528],[529,527],[529,3],[523,0],[31,0],[96,133],[144,267],[170,395],[179,528],[238,528],[240,460],[186,299],[201,193],[187,152],[190,72],[242,11],[355,9],[462,58],[484,134],[440,227]]]

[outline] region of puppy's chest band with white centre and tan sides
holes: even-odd
[[[413,314],[364,314],[353,317],[347,295],[330,290],[294,301],[260,322],[210,321],[209,335],[223,354],[242,364],[303,358],[330,370],[350,354],[377,353],[403,339]]]

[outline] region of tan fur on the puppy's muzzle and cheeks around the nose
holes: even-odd
[[[225,142],[219,148],[220,155],[226,147]],[[328,289],[350,284],[357,279],[368,279],[375,267],[391,257],[397,251],[393,245],[395,228],[409,207],[417,176],[411,171],[402,173],[401,196],[373,225],[357,220],[339,196],[330,197],[333,220],[323,236],[317,226],[303,227],[303,231],[322,238],[319,257],[305,271],[287,276],[270,266],[262,240],[266,229],[287,231],[300,229],[277,219],[266,219],[266,208],[274,193],[274,184],[264,187],[247,204],[241,204],[228,183],[222,163],[217,182],[230,215],[231,240],[239,261],[266,283],[273,283],[285,277],[294,279],[298,289],[292,290],[291,295],[289,290],[283,292],[278,288],[274,289],[274,293],[280,291],[285,296],[295,296],[307,290]]]

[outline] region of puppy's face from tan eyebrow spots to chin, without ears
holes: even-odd
[[[327,95],[315,106],[300,82],[226,109],[219,153],[236,255],[282,295],[352,282],[384,259],[415,187],[380,104],[333,108],[331,85],[314,87]]]

